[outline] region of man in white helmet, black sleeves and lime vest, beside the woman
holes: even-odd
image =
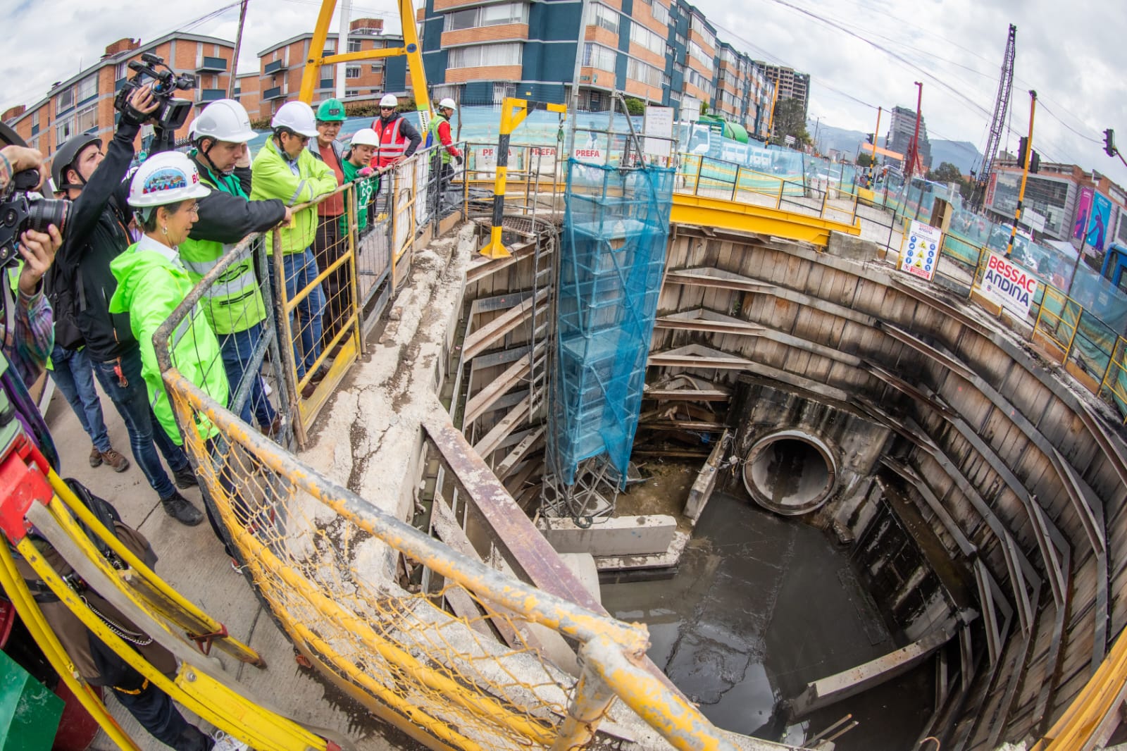
[[[180,259],[193,282],[198,282],[251,232],[266,232],[290,221],[290,207],[281,198],[250,201],[250,153],[247,141],[255,138],[250,117],[233,99],[207,105],[193,121],[195,149],[189,157],[202,183],[212,188],[198,200],[199,219],[188,239],[180,244]],[[223,368],[233,395],[250,369],[251,356],[261,338],[266,304],[255,274],[254,250],[247,247],[212,284],[199,301],[223,351]],[[252,373],[247,403],[240,416],[251,414],[263,432],[276,436],[282,417],[270,406],[258,373]]]

